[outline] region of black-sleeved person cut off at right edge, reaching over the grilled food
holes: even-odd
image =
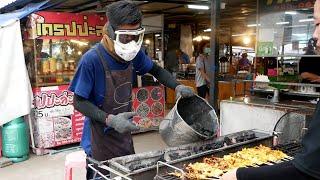
[[[320,0],[314,6],[314,38],[320,38]],[[320,41],[317,42],[320,47]],[[223,180],[313,180],[320,179],[320,101],[314,112],[307,134],[302,140],[303,151],[294,160],[273,166],[240,168],[223,175]]]

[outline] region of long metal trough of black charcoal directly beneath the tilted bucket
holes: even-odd
[[[257,130],[241,131],[214,140],[118,157],[106,163],[114,171],[126,175],[132,180],[149,180],[156,176],[159,161],[182,168],[185,164],[201,161],[203,157],[210,155],[222,156],[241,150],[244,147],[253,147],[260,144],[270,147],[272,146],[272,140],[272,135]],[[158,173],[166,174],[168,170],[166,167],[160,166]],[[119,176],[113,172],[110,175],[111,178]]]

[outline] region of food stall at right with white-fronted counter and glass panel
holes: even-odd
[[[250,88],[220,103],[222,135],[251,128],[275,133],[275,126],[286,119],[283,128],[301,140],[320,97],[319,84],[302,83],[299,72],[302,57],[317,57],[307,54],[312,5],[309,0],[259,3],[254,67],[262,75],[257,73],[253,81],[234,81]]]

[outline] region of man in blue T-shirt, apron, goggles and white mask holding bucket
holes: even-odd
[[[132,71],[150,73],[178,96],[193,96],[140,50],[145,29],[138,6],[117,1],[106,10],[106,34],[86,52],[70,85],[74,106],[86,116],[81,145],[98,161],[134,153],[131,132],[139,130],[131,120]],[[90,171],[87,171],[87,178]]]

